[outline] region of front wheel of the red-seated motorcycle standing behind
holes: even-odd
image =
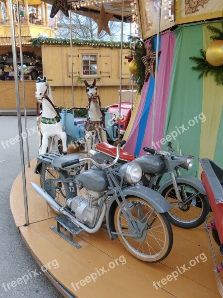
[[[192,198],[186,204],[182,204],[180,208],[173,185],[168,186],[162,193],[162,196],[164,196],[172,206],[171,209],[167,211],[168,220],[172,224],[183,228],[194,228],[203,224],[210,211],[208,198],[200,194],[196,188],[189,184],[177,183],[177,186],[183,202],[188,201],[190,197]],[[187,198],[183,196],[183,191]]]

